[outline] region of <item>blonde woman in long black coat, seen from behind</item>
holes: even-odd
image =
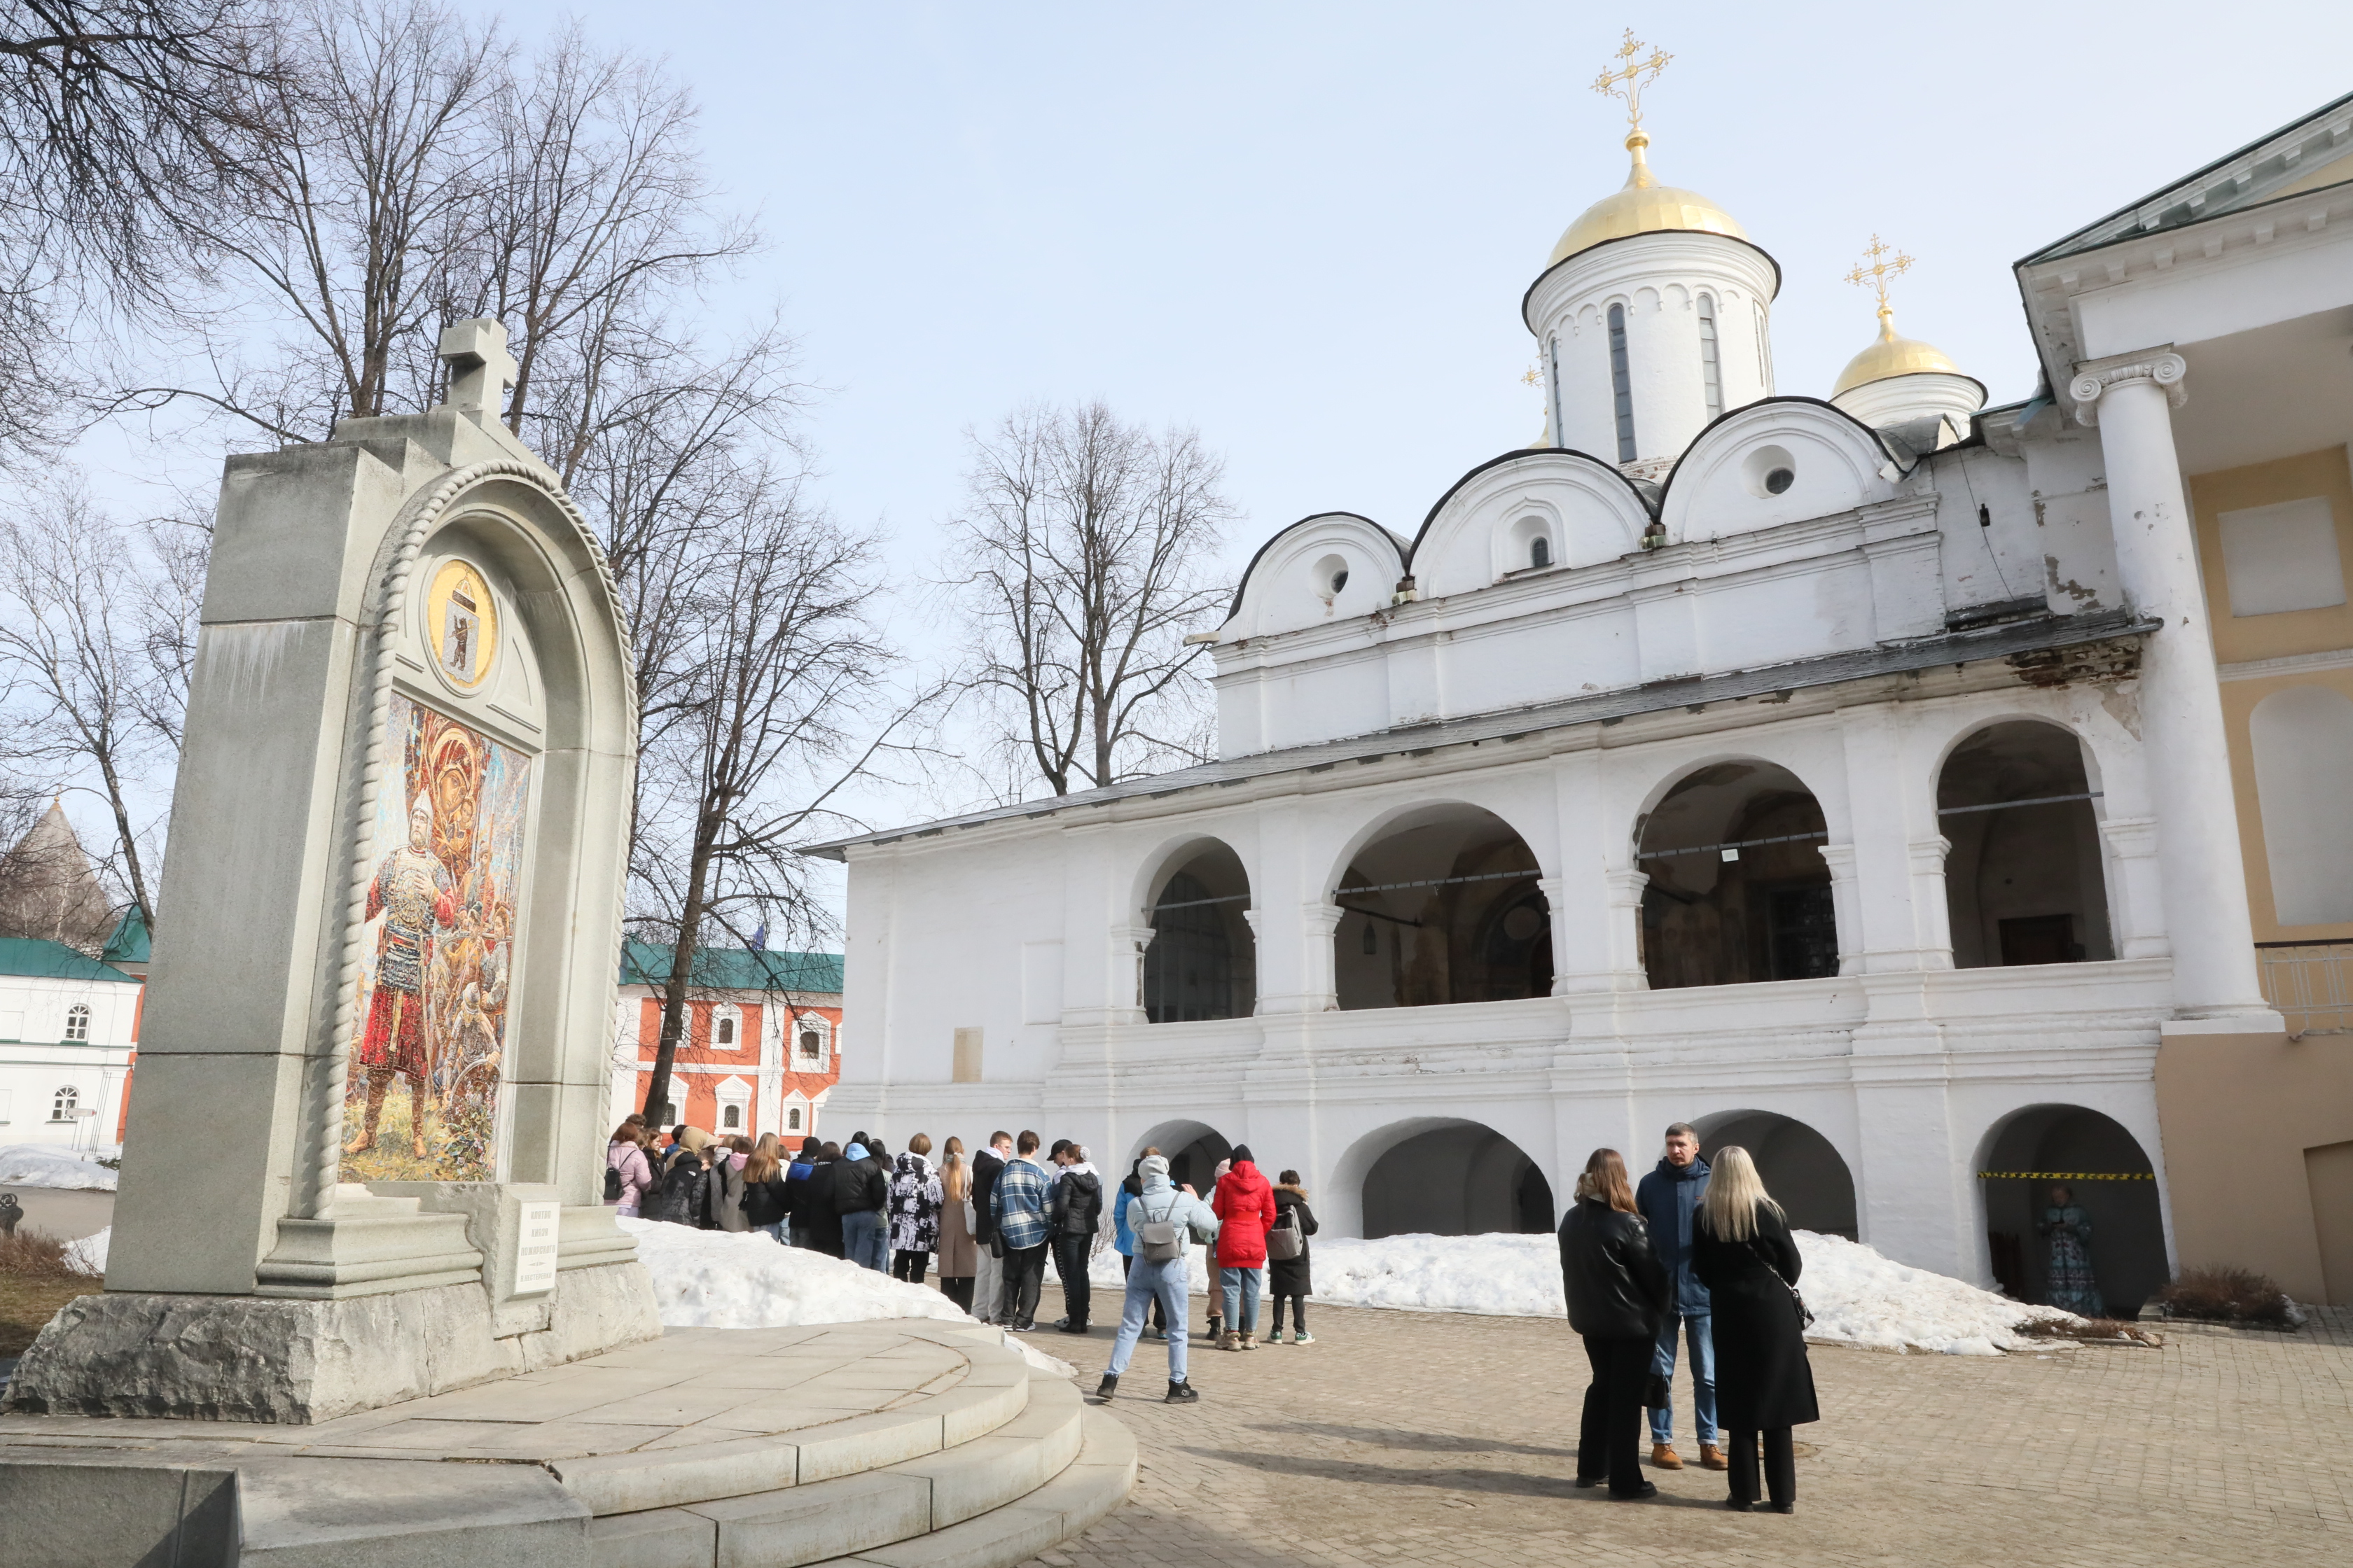
[[[1715,1302],[1715,1420],[1732,1443],[1725,1507],[1755,1505],[1762,1436],[1765,1490],[1772,1512],[1788,1514],[1798,1507],[1791,1427],[1821,1420],[1798,1314],[1805,1260],[1748,1150],[1732,1145],[1708,1159],[1708,1194],[1692,1215],[1692,1272]]]

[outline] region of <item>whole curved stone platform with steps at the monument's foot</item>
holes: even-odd
[[[0,1418],[0,1512],[104,1495],[89,1561],[991,1568],[1134,1465],[1000,1331],[915,1319],[671,1331],[315,1427]]]

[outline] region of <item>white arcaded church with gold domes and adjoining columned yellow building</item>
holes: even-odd
[[[2115,1312],[2353,1300],[2353,99],[2019,261],[2009,407],[1885,289],[1779,388],[1779,263],[1628,150],[1541,440],[1268,538],[1214,762],[814,849],[835,1121],[1249,1143],[1337,1234],[1551,1229],[1692,1121],[2019,1295],[2064,1173]]]

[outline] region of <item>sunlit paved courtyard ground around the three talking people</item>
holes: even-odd
[[[1054,1307],[1059,1314],[1059,1305]],[[1040,1314],[1047,1316],[1047,1314]],[[2172,1328],[2165,1349],[1897,1356],[1814,1347],[1798,1512],[1725,1479],[1577,1490],[1584,1354],[1565,1321],[1313,1307],[1318,1342],[1193,1347],[1162,1406],[1146,1342],[1113,1408],[1127,1507],[1033,1563],[2322,1563],[2353,1540],[2353,1312],[2301,1333]],[[1200,1302],[1195,1298],[1195,1328]],[[1111,1333],[1035,1335],[1087,1387]],[[1678,1448],[1689,1380],[1678,1375]],[[1645,1450],[1647,1453],[1647,1450]]]

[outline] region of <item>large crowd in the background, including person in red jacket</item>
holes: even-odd
[[[1014,1333],[1038,1328],[1047,1255],[1061,1279],[1061,1333],[1089,1333],[1094,1284],[1089,1262],[1104,1229],[1106,1192],[1087,1150],[1068,1138],[1040,1157],[1038,1133],[991,1133],[967,1154],[948,1138],[932,1161],[932,1138],[915,1133],[896,1157],[866,1133],[849,1143],[802,1138],[786,1152],[774,1133],[758,1140],[713,1135],[699,1126],[656,1133],[628,1117],[605,1147],[605,1201],[616,1213],[699,1229],[765,1232],[784,1246],[845,1258],[908,1284],[934,1269],[958,1307]],[[1118,1392],[1146,1335],[1167,1340],[1169,1403],[1200,1392],[1186,1378],[1191,1340],[1186,1298],[1191,1246],[1214,1248],[1209,1345],[1259,1347],[1259,1309],[1273,1307],[1268,1345],[1313,1345],[1308,1244],[1315,1211],[1297,1171],[1275,1182],[1247,1147],[1217,1166],[1205,1201],[1169,1180],[1160,1150],[1144,1150],[1108,1194],[1108,1244],[1120,1255],[1125,1300],[1111,1373],[1096,1389]],[[1176,1326],[1169,1333],[1169,1324]]]

